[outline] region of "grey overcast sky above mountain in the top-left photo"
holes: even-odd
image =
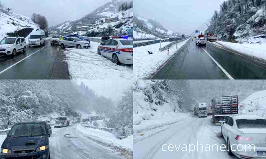
[[[31,17],[33,13],[44,15],[48,27],[66,20],[77,20],[91,13],[110,0],[1,0],[15,13]]]

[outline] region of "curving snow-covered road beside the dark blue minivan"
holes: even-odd
[[[119,159],[111,149],[92,142],[77,131],[78,124],[52,128],[50,141],[51,159]]]

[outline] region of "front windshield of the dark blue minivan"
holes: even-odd
[[[46,135],[46,129],[44,124],[40,123],[27,123],[14,125],[8,137],[31,137]]]

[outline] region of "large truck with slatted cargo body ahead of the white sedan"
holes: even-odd
[[[238,96],[220,96],[211,100],[212,120],[214,125],[220,125],[229,116],[238,115]]]

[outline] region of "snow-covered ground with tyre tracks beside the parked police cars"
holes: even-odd
[[[100,43],[91,41],[90,49],[64,50],[71,79],[133,79],[133,68],[118,66],[99,55],[99,45]]]

